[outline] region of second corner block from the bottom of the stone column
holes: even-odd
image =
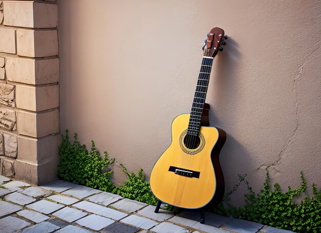
[[[58,146],[60,144],[61,135],[50,135],[40,139],[19,135],[18,159],[37,164],[50,162],[58,158]]]

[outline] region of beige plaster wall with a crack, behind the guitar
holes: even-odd
[[[149,175],[190,111],[203,40],[222,27],[207,102],[227,132],[226,190],[245,173],[259,190],[267,166],[284,189],[300,171],[320,187],[320,12],[316,0],[59,1],[61,131]]]

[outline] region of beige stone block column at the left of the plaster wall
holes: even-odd
[[[57,176],[57,5],[0,1],[0,172],[43,184]]]

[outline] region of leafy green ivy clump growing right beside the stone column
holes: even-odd
[[[109,159],[107,152],[102,158],[91,141],[91,151],[88,153],[86,145],[82,145],[74,135],[74,142],[69,140],[68,130],[62,135],[62,144],[59,146],[60,160],[58,164],[58,177],[76,184],[86,185],[106,192],[114,189],[110,180],[112,171],[103,172],[115,159]]]

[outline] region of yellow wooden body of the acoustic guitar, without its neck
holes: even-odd
[[[150,186],[160,201],[195,209],[219,202],[223,197],[224,178],[218,155],[226,134],[215,127],[201,126],[199,145],[188,149],[184,137],[189,119],[190,114],[182,114],[173,120],[172,142],[156,161]]]

